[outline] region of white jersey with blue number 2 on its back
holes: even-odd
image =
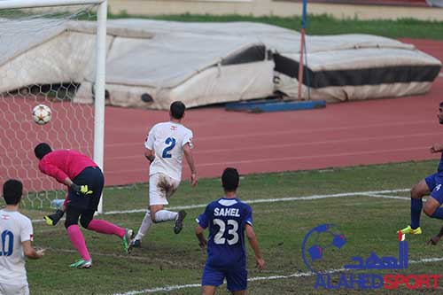
[[[192,131],[172,121],[154,125],[144,147],[155,151],[149,175],[162,173],[178,181],[182,179],[183,145],[192,148]]]

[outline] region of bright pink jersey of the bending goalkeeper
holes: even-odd
[[[66,177],[73,180],[86,167],[97,167],[97,164],[81,152],[72,150],[51,151],[38,164],[40,171],[60,183],[64,183]]]

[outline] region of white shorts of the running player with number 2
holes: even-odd
[[[178,189],[180,181],[162,173],[156,173],[149,177],[149,206],[167,205],[175,190]]]

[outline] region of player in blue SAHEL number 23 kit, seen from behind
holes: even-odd
[[[204,295],[214,295],[224,278],[232,294],[245,294],[247,270],[244,232],[255,252],[260,270],[265,264],[253,231],[253,210],[237,198],[238,182],[237,169],[226,168],[221,175],[225,196],[206,206],[205,213],[197,219],[195,232],[198,244],[202,249],[207,245],[207,260],[201,283]],[[207,242],[203,236],[206,228],[209,228]]]

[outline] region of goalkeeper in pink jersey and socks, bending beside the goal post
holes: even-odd
[[[92,260],[89,256],[82,231],[78,226],[98,233],[115,235],[123,241],[123,252],[128,254],[128,245],[132,241],[133,230],[123,229],[111,222],[94,220],[105,178],[97,164],[79,151],[52,151],[49,144],[38,144],[35,147],[35,157],[39,159],[38,168],[45,175],[54,177],[58,182],[68,186],[65,200],[67,235],[82,259],[71,264],[71,268],[90,268]],[[50,225],[55,225],[63,216],[63,211],[44,216]]]

